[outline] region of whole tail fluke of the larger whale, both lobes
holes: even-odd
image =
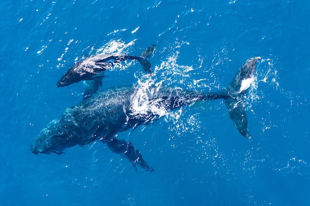
[[[224,99],[230,119],[240,134],[247,138],[251,138],[251,134],[248,132],[248,119],[243,103],[243,96],[247,93],[251,83],[254,81],[253,75],[259,59],[260,57],[250,58],[241,66],[236,76],[226,88],[229,98]]]

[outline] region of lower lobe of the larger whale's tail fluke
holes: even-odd
[[[248,132],[248,119],[246,110],[242,100],[229,99],[225,100],[228,108],[228,114],[233,121],[235,127],[242,136],[251,138],[251,134]]]

